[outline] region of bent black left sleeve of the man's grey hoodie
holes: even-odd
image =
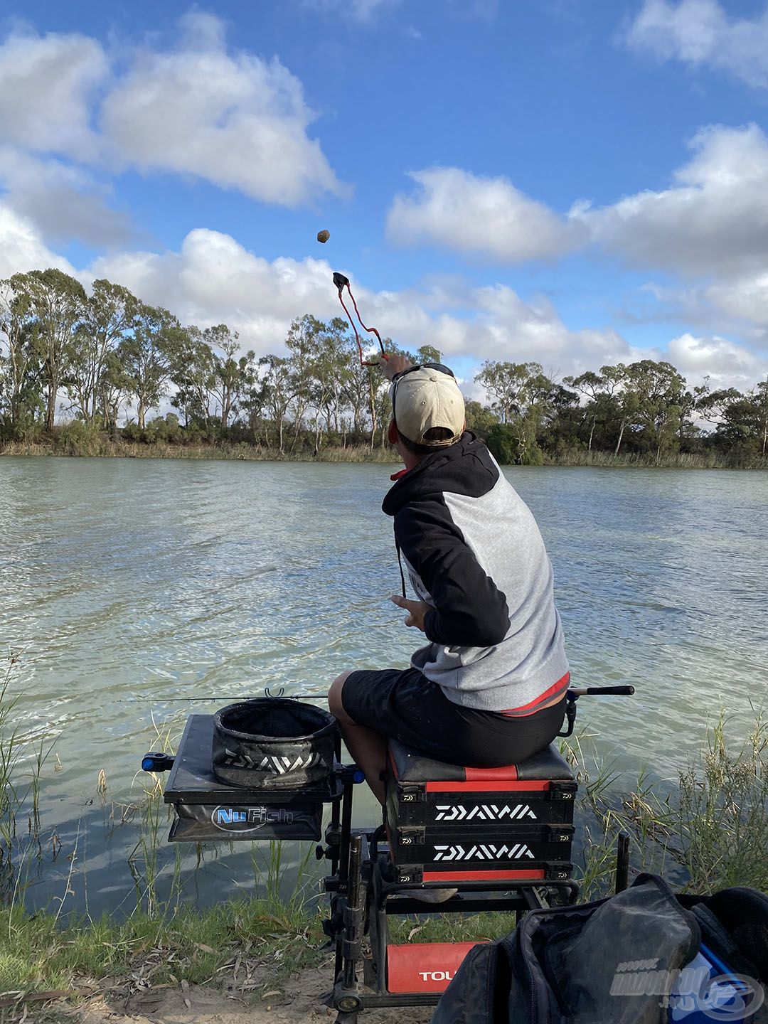
[[[427,639],[460,647],[501,643],[510,625],[506,595],[475,558],[445,504],[409,503],[396,513],[394,530],[434,602],[424,620]]]

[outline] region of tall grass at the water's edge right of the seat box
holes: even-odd
[[[581,786],[584,899],[611,890],[622,831],[633,837],[631,873],[664,874],[683,891],[750,886],[768,892],[768,722],[758,713],[742,742],[726,733],[721,716],[677,785],[644,771],[629,791],[616,787],[609,762],[586,753],[584,737],[563,743]]]

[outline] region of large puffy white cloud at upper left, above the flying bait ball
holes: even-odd
[[[221,23],[188,15],[178,47],[142,50],[104,98],[100,125],[117,160],[189,174],[267,203],[340,193],[298,78],[274,57],[227,52]]]

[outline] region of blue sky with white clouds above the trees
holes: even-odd
[[[13,3],[0,276],[108,276],[261,354],[342,269],[468,380],[768,372],[765,2]]]

